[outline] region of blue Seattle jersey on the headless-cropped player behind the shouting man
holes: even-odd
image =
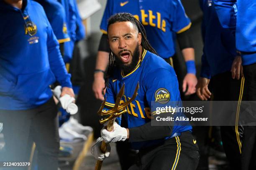
[[[173,33],[190,28],[180,0],[108,0],[100,29],[107,34],[108,18],[115,13],[131,13],[144,26],[147,39],[162,58],[175,53]]]

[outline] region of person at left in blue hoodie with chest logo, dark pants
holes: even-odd
[[[49,85],[57,80],[61,96],[74,97],[58,40],[38,2],[1,0],[0,20],[0,117],[5,138],[0,160],[29,162],[35,142],[38,169],[57,170],[57,107]]]

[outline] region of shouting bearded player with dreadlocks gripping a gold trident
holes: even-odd
[[[107,31],[111,52],[106,108],[115,105],[115,96],[123,83],[123,102],[133,95],[137,82],[139,89],[136,99],[122,117],[127,127],[121,127],[115,122],[112,132],[102,128],[102,137],[92,147],[92,154],[96,159],[103,160],[108,153],[101,153],[100,141],[110,143],[128,140],[133,149],[139,150],[140,155],[138,165],[130,169],[195,170],[199,153],[191,134],[192,127],[187,124],[151,126],[151,116],[156,111],[151,101],[181,101],[174,69],[156,55],[146,39],[143,26],[133,15],[113,15],[109,19]]]

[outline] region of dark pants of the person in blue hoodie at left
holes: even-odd
[[[31,110],[0,110],[5,140],[5,153],[0,155],[0,161],[29,162],[31,147],[35,142],[38,150],[38,170],[57,170],[57,112],[52,98],[44,105]]]

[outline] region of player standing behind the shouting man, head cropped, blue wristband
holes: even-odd
[[[148,41],[160,57],[172,65],[175,54],[175,34],[187,65],[187,75],[182,83],[183,92],[189,95],[195,92],[195,56],[192,42],[188,36],[191,22],[184,12],[180,0],[108,0],[100,29],[103,32],[97,54],[97,61],[92,89],[97,99],[103,100],[102,89],[105,87],[104,73],[108,65],[109,47],[107,43],[107,21],[111,15],[128,12],[145,27]]]

